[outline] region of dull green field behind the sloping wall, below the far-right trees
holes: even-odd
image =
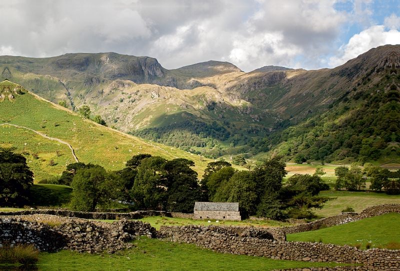
[[[320,195],[337,197],[323,205],[322,209],[315,210],[315,213],[322,217],[336,215],[342,209],[349,206],[356,212],[363,209],[383,204],[383,203],[400,203],[400,195],[387,195],[384,192],[350,192],[350,191],[321,191]]]

